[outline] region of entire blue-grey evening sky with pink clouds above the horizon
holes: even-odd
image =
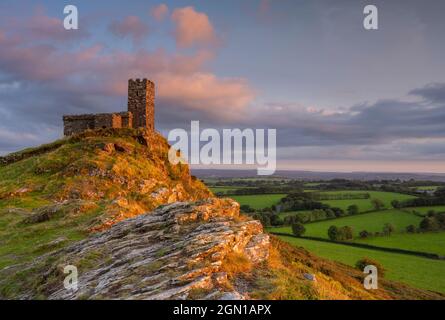
[[[63,28],[76,5],[79,29]],[[363,28],[363,8],[379,29]],[[62,136],[63,114],[156,127],[274,128],[279,169],[445,173],[445,1],[0,2],[0,154]]]

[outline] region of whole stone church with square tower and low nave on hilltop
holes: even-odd
[[[128,111],[63,116],[63,133],[71,136],[85,130],[146,128],[155,130],[155,84],[147,79],[128,80]]]

